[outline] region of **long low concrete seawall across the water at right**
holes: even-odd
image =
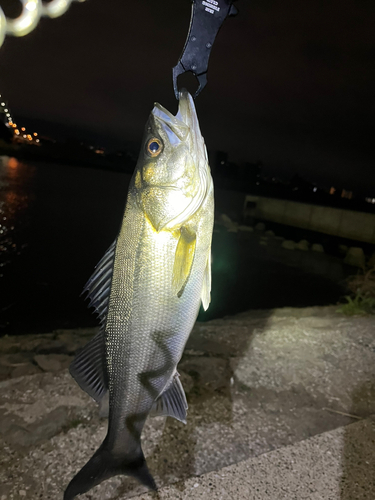
[[[244,216],[375,244],[375,214],[246,195]]]

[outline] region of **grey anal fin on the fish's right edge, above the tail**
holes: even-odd
[[[180,376],[176,372],[167,388],[160,394],[151,409],[151,415],[173,417],[186,424],[188,404]]]

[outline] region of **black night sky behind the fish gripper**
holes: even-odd
[[[280,177],[299,173],[375,196],[375,2],[236,5],[197,99],[208,149],[262,160]],[[0,93],[16,120],[87,130],[112,146],[139,144],[154,101],[177,110],[172,67],[190,8],[189,0],[73,3],[26,37],[6,39]]]

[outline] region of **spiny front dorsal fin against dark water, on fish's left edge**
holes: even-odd
[[[90,299],[89,307],[94,307],[103,327],[107,318],[109,294],[111,292],[113,263],[116,250],[115,240],[97,264],[94,273],[85,285],[83,294]]]

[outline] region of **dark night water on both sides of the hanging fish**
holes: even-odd
[[[117,235],[129,180],[117,172],[0,157],[0,335],[96,325],[80,293]],[[342,295],[332,276],[283,262],[255,236],[217,231],[212,302],[201,320],[329,304]]]

